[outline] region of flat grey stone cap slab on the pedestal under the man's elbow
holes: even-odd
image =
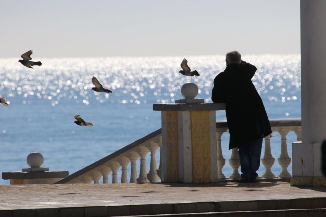
[[[196,103],[196,104],[154,104],[154,111],[216,111],[225,110],[224,103]]]

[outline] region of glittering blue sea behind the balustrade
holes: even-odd
[[[200,76],[179,73],[183,58]],[[0,105],[1,172],[28,168],[27,155],[37,151],[44,157],[41,167],[72,174],[161,128],[161,114],[153,111],[153,104],[182,99],[184,83],[197,84],[196,98],[211,103],[213,80],[226,66],[224,55],[34,59],[42,66],[30,69],[18,58],[0,59],[0,95],[9,103],[9,107]],[[242,59],[257,67],[252,81],[269,118],[301,118],[300,54],[245,55]],[[93,76],[112,93],[91,90]],[[76,114],[94,126],[76,125]],[[217,111],[216,119],[226,120],[225,112]],[[273,135],[271,149],[277,159],[280,135]],[[296,135],[290,132],[289,156],[293,141]],[[222,152],[228,160],[228,133],[222,136]],[[149,159],[148,154],[147,169]],[[159,151],[156,159],[159,162]],[[288,170],[291,173],[291,165]],[[277,160],[272,171],[275,175],[281,171]],[[263,172],[261,165],[258,174]],[[228,162],[223,173],[232,173]],[[0,179],[0,184],[9,180]]]

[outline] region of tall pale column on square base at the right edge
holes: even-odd
[[[292,144],[294,186],[326,186],[321,143],[326,139],[326,1],[301,0],[302,142]]]

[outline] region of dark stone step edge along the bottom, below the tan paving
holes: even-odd
[[[30,208],[0,210],[1,217],[55,216],[325,216],[326,198]]]

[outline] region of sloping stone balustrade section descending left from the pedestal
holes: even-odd
[[[131,162],[130,183],[157,182],[156,150],[161,146],[161,129],[121,148],[120,150],[92,163],[91,165],[56,182],[62,183],[94,183],[98,184],[103,177],[103,184],[108,183],[108,175],[112,172],[112,183],[118,183],[117,171],[121,168],[121,183],[127,183],[127,166]],[[150,171],[147,174],[146,156],[151,153]],[[140,157],[140,172],[137,178],[136,161]]]

